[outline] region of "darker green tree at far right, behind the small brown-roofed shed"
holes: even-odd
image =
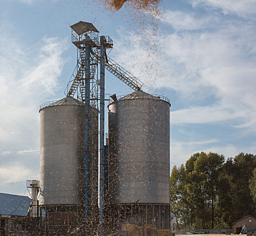
[[[240,153],[234,158],[228,158],[222,174],[218,196],[218,220],[232,227],[232,223],[243,216],[254,214],[255,203],[250,194],[249,179],[256,168],[256,158],[253,154]]]

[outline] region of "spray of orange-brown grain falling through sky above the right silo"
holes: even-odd
[[[164,13],[163,0],[96,0],[96,2],[103,6],[105,11],[110,14],[118,13],[128,22],[130,35],[126,35],[123,45],[129,45],[130,49],[124,51],[128,57],[124,67],[145,82],[144,88],[150,84],[150,89],[159,93],[157,78],[161,71],[158,63],[163,50],[160,40],[164,37],[164,32],[160,30],[159,19]],[[143,60],[140,59],[134,65],[134,60],[130,58],[136,58],[136,51],[137,53],[139,51]]]

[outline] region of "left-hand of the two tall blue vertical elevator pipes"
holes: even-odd
[[[88,37],[88,36],[87,36]],[[91,47],[86,45],[85,47],[85,80],[84,80],[84,220],[88,220],[88,209],[90,202],[89,196],[89,109],[90,109],[90,55]],[[87,233],[85,232],[85,235]]]

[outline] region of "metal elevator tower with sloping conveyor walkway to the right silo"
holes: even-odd
[[[85,189],[84,189],[84,204],[85,204],[85,219],[87,225],[93,216],[94,212],[88,209],[90,206],[89,189],[92,175],[89,175],[91,167],[88,163],[88,130],[87,117],[88,106],[98,108],[98,100],[100,100],[100,130],[99,130],[99,154],[100,154],[100,186],[99,186],[99,232],[103,231],[103,166],[104,166],[104,110],[105,110],[105,68],[113,73],[122,82],[130,86],[134,90],[140,90],[143,83],[132,76],[124,67],[118,65],[115,61],[107,57],[106,49],[113,47],[113,41],[109,36],[98,36],[98,30],[93,24],[88,22],[78,22],[72,26],[72,42],[78,49],[76,69],[70,78],[70,82],[66,87],[67,96],[77,96],[78,100],[84,102],[84,160],[85,160]],[[98,76],[98,64],[100,67],[100,80]],[[99,96],[100,90],[100,96]]]

